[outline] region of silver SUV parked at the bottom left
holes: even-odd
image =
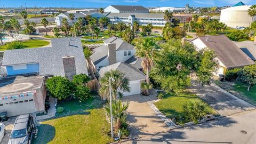
[[[17,117],[8,144],[30,144],[33,137],[34,119],[31,115]]]

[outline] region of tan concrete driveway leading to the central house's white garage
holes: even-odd
[[[156,99],[153,95],[141,96],[131,95],[123,98],[123,101],[129,101],[127,109],[129,115],[130,135],[132,139],[146,138],[157,133],[168,131],[167,125],[150,108],[147,101]]]

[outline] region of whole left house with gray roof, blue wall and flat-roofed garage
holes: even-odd
[[[51,47],[4,51],[0,113],[8,116],[45,111],[45,78],[88,74],[80,38],[53,38]]]

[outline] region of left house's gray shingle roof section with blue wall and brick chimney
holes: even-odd
[[[41,76],[87,74],[81,39],[53,38],[51,47],[4,51],[3,76],[37,73]]]

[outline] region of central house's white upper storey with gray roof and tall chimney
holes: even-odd
[[[111,37],[103,42],[104,45],[93,49],[93,54],[89,59],[90,65],[95,73],[102,67],[117,62],[125,62],[135,53],[134,46],[123,41],[121,38]]]

